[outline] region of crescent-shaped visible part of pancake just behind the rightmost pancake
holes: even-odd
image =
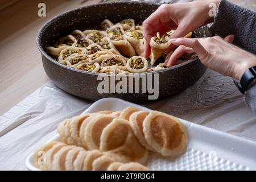
[[[149,114],[148,111],[137,111],[130,116],[131,127],[133,128],[135,136],[138,138],[139,142],[144,146],[147,150],[155,151],[151,148],[144,137],[143,133],[143,121]]]

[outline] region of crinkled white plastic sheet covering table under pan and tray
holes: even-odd
[[[0,117],[0,169],[26,169],[25,160],[56,134],[65,118],[79,115],[91,101],[48,82]],[[213,129],[256,140],[256,116],[229,77],[208,71],[183,93],[142,104]]]

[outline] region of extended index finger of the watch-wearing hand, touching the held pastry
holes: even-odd
[[[188,38],[178,38],[178,39],[172,39],[172,44],[175,46],[185,46],[190,47],[197,53],[200,60],[204,60],[207,56],[208,52],[205,50],[205,48],[202,46],[202,44],[199,42],[199,39],[188,39]]]

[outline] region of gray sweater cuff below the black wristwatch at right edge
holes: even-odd
[[[256,82],[245,92],[245,102],[256,114]]]

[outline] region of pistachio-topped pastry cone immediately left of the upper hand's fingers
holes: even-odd
[[[126,39],[131,43],[131,46],[134,47],[137,55],[143,56],[143,33],[139,30],[126,30],[125,31]]]

